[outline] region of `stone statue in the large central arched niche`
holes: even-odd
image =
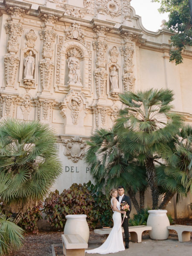
[[[69,68],[68,84],[81,83],[79,59],[77,58],[79,52],[75,48],[73,48],[70,53],[71,53],[70,57],[67,60],[68,68]]]

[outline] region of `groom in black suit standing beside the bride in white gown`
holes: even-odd
[[[122,223],[122,227],[124,229],[124,234],[125,234],[125,249],[128,249],[129,248],[129,227],[128,227],[128,219],[130,218],[129,217],[129,214],[131,212],[131,199],[129,198],[128,195],[124,195],[124,192],[125,192],[125,189],[123,186],[119,186],[118,187],[118,193],[119,193],[119,196],[116,198],[119,203],[128,203],[129,205],[129,211],[126,212],[126,215],[127,215],[127,218],[125,217],[123,223]],[[122,220],[123,220],[123,214],[122,214]]]

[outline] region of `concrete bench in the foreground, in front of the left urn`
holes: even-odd
[[[88,244],[79,235],[61,235],[63,253],[65,256],[84,256]]]

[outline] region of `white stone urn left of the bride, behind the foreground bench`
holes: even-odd
[[[64,234],[67,235],[79,235],[84,241],[88,242],[89,240],[89,226],[87,224],[85,214],[74,214],[74,215],[66,215],[67,219]]]

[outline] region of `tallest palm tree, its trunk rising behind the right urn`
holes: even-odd
[[[180,115],[172,110],[173,92],[168,89],[126,92],[119,95],[126,105],[119,111],[114,131],[120,149],[136,157],[145,165],[147,182],[151,188],[153,209],[157,209],[160,190],[155,163],[160,163],[160,151],[183,125]]]

